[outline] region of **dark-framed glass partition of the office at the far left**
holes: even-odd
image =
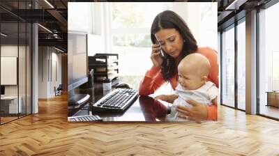
[[[27,9],[31,1],[13,1],[13,10]],[[32,26],[31,23],[20,18],[10,18],[10,13],[0,8],[0,12],[6,14],[0,21],[0,63],[1,79],[9,80],[5,75],[4,67],[10,66],[15,70],[13,75],[16,80],[12,84],[9,81],[1,81],[1,87],[4,87],[0,101],[0,125],[11,120],[21,118],[31,114],[31,42]],[[6,61],[4,61],[6,60]],[[8,62],[7,62],[8,60]],[[9,63],[12,63],[11,65]],[[15,68],[16,67],[16,68]]]

